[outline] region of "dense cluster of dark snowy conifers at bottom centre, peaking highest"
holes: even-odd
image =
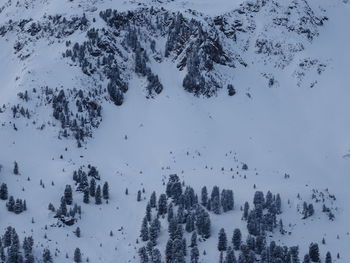
[[[169,204],[168,204],[169,202]],[[155,211],[154,211],[155,210]],[[169,240],[165,250],[166,262],[185,262],[188,254],[184,231],[191,234],[191,262],[199,262],[197,234],[206,239],[211,235],[211,221],[208,212],[199,204],[193,188],[183,184],[176,174],[169,176],[166,194],[161,194],[157,202],[156,193],[151,194],[142,221],[140,237],[147,242],[139,250],[142,263],[161,262],[161,253],[156,248],[161,224],[159,218],[168,221]]]

